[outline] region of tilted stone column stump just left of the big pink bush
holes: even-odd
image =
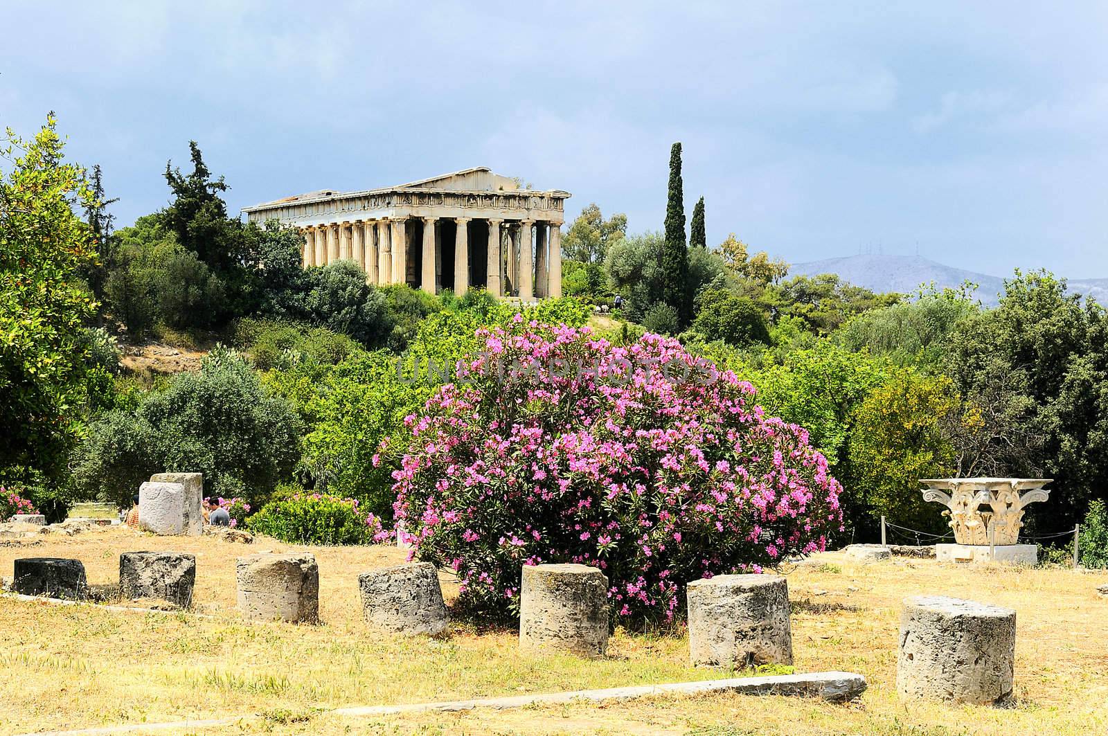
[[[430,562],[363,572],[358,576],[361,612],[377,628],[439,636],[447,631],[447,605],[439,573]]]

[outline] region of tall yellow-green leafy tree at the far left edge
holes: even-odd
[[[74,207],[90,206],[84,173],[62,163],[54,119],[33,140],[10,129],[0,156],[0,469],[61,473],[85,396],[83,320],[95,304],[78,285],[95,244]]]

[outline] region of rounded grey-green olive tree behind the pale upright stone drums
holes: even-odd
[[[154,472],[198,471],[209,494],[256,502],[291,472],[299,436],[288,401],[217,346],[198,372],[175,376],[134,411],[116,409],[98,420],[74,458],[74,482],[123,505]]]

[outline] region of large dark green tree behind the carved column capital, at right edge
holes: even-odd
[[[1108,319],[1046,272],[1016,273],[996,309],[958,324],[945,364],[958,390],[979,399],[997,471],[1054,478],[1036,529],[1073,528],[1108,487]],[[995,419],[994,419],[995,418]]]

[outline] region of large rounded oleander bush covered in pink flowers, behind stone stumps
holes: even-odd
[[[678,615],[689,581],[824,549],[839,482],[808,432],[674,339],[588,328],[479,333],[484,352],[408,417],[393,471],[412,555],[458,571],[464,606],[515,614],[522,565],[595,565],[626,622]],[[379,460],[380,461],[380,460]]]

